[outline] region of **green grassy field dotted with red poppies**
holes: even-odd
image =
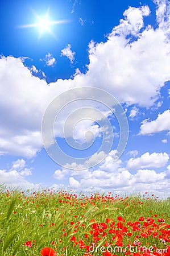
[[[3,185],[0,193],[1,255],[170,255],[168,199]]]

